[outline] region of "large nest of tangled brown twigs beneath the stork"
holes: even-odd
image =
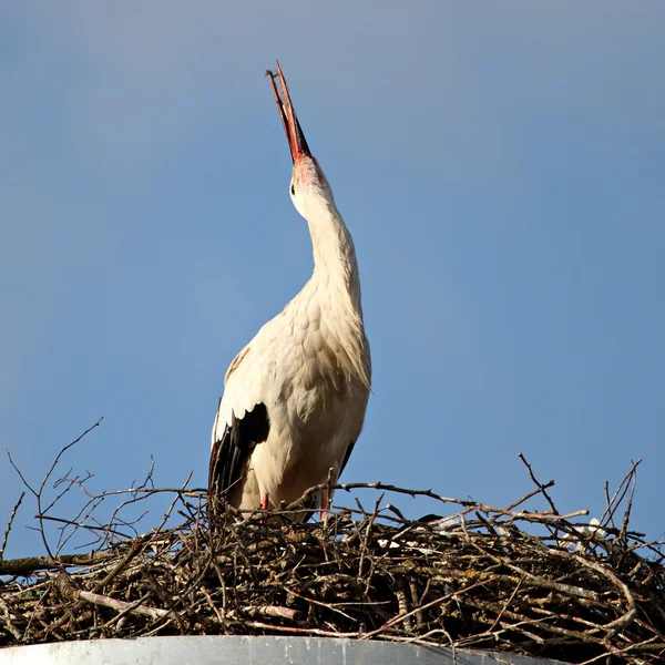
[[[150,533],[124,533],[131,523],[120,508],[108,524],[90,518],[88,508],[60,520],[61,545],[88,530],[98,541],[94,551],[0,560],[0,646],[300,635],[571,663],[665,662],[662,543],[628,529],[636,466],[614,497],[607,494],[600,521],[580,521],[586,511],[560,514],[548,493],[553,483],[540,483],[528,468],[535,489],[505,509],[430,490],[341,484],[338,501],[354,490],[372,508],[356,498],[325,522],[304,524],[224,505],[208,518],[203,490],[132,488],[120,508],[172,494],[162,524]],[[43,485],[28,489],[39,504]],[[89,494],[86,505],[119,493]],[[385,493],[424,495],[454,510],[409,520],[385,503]],[[548,510],[520,509],[534,498]],[[50,509],[40,509],[42,526]],[[167,526],[174,518],[181,523]]]

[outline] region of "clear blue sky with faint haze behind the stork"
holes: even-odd
[[[205,484],[226,367],[311,270],[279,59],[360,263],[344,480],[501,505],[523,452],[600,514],[644,458],[633,525],[663,535],[665,4],[3,3],[0,31],[0,423],[30,480],[104,416],[64,471]]]

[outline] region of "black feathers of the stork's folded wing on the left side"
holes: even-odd
[[[228,490],[242,480],[247,458],[257,443],[268,438],[270,420],[264,403],[256,405],[243,418],[231,416],[231,424],[213,444],[208,474],[208,499],[224,497]]]

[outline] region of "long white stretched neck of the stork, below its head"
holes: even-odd
[[[317,206],[307,219],[314,247],[313,279],[321,295],[345,297],[362,319],[360,277],[356,248],[337,208],[327,203]]]

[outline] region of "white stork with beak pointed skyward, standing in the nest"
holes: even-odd
[[[314,273],[231,364],[208,475],[209,505],[222,495],[236,508],[264,510],[337,481],[362,429],[371,380],[354,241],[309,151],[279,63],[277,74],[267,74],[293,160],[289,194],[311,236]],[[321,490],[313,505],[325,515],[330,500],[331,491]]]

